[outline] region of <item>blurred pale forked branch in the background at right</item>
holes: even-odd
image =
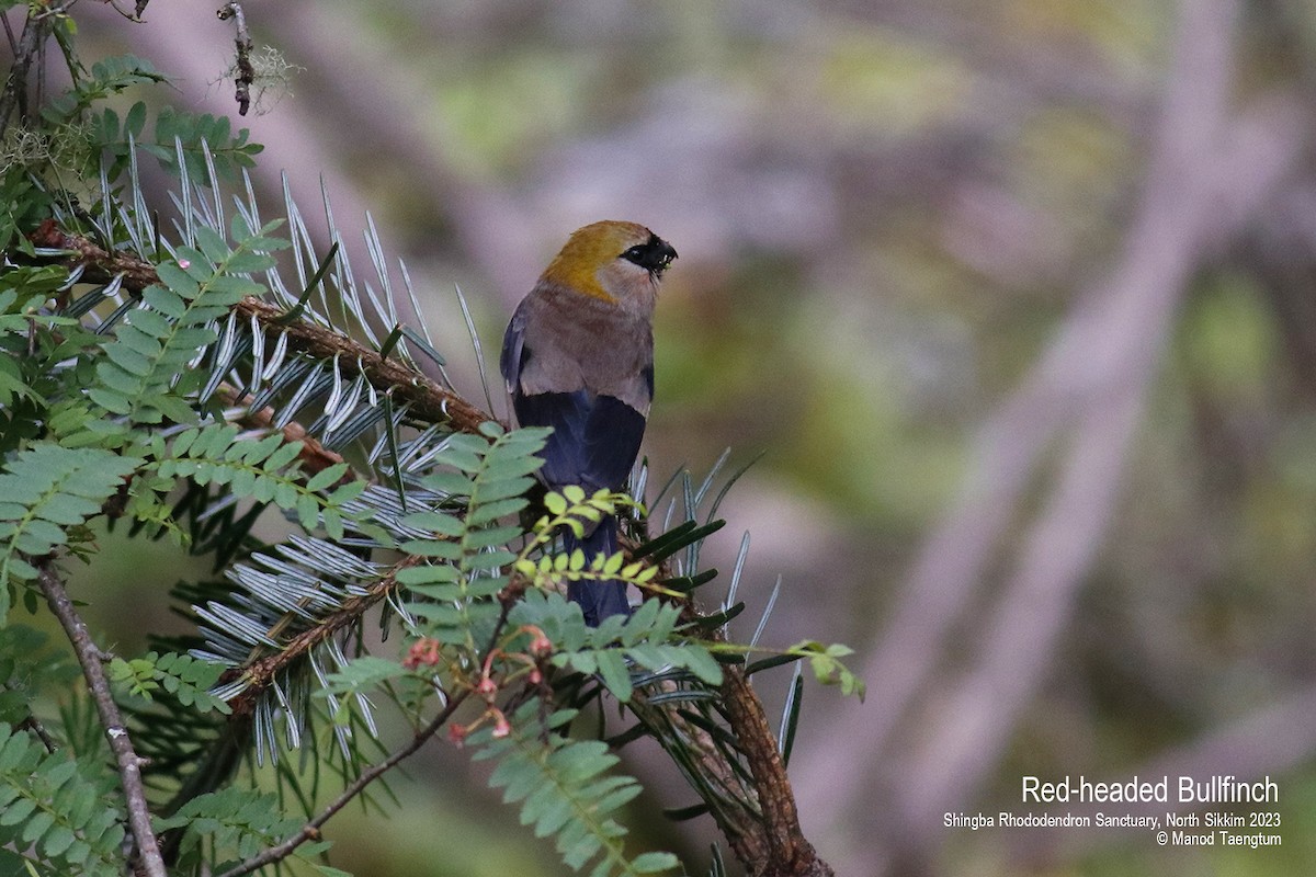
[[[838,769],[821,748],[801,756],[801,802],[821,823],[867,813],[859,802],[871,799],[880,777],[883,798],[901,805],[886,843],[915,859],[928,855],[940,824],[934,815],[967,806],[1036,694],[1115,513],[1148,385],[1192,270],[1248,226],[1309,139],[1299,125],[1277,124],[1283,118],[1269,104],[1230,117],[1236,5],[1180,4],[1178,53],[1124,249],[980,429],[957,504],[925,540],[865,668],[871,709],[834,728],[853,742],[846,764],[879,767]],[[1266,137],[1257,134],[1258,124]],[[1258,141],[1270,149],[1258,153]],[[882,769],[892,764],[903,723],[924,709],[920,697],[944,664],[951,631],[980,593],[1001,534],[1023,514],[1011,510],[1024,502],[1057,442],[1065,447],[1061,472],[987,615],[979,657],[937,707],[954,718],[932,722],[938,730],[920,738],[920,756],[903,769]],[[923,790],[917,797],[891,793],[915,786]]]

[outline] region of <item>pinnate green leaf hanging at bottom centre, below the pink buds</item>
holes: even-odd
[[[651,874],[676,866],[675,856],[645,853],[628,859],[626,830],[613,818],[640,794],[640,784],[611,773],[617,756],[601,740],[572,740],[561,728],[575,717],[561,710],[540,721],[538,703],[526,703],[512,718],[511,731],[495,738],[491,728],[472,734],[475,759],[497,759],[490,784],[503,789],[507,803],[521,803],[521,823],[538,838],[553,836],[562,861],[572,870],[595,863],[591,877]]]

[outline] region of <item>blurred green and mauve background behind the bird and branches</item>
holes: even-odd
[[[175,76],[171,101],[232,113],[212,5],[133,25],[83,4],[82,51],[133,51]],[[724,565],[749,530],[741,597],[786,580],[767,638],[859,651],[869,701],[812,692],[792,763],[838,873],[1316,861],[1308,0],[246,13],[272,47],[242,122],[267,147],[257,185],[276,204],[283,171],[305,205],[322,184],[343,229],[368,210],[471,398],[455,285],[492,368],[570,230],[626,218],[676,246],[646,452],[659,473],[762,452],[725,506]],[[121,593],[96,607],[125,610],[96,623],[134,642],[158,605],[139,594],[180,575],[125,556],[96,582]],[[665,823],[688,801],[630,756],[641,822],[700,860],[709,827]],[[496,828],[509,810],[470,799],[463,759],[426,757],[400,815],[345,817],[337,849],[359,859],[341,866],[550,873]],[[1275,777],[1284,845],[942,824],[1026,809],[1025,773],[1177,770]]]

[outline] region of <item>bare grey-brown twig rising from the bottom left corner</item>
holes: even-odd
[[[96,702],[96,711],[100,714],[100,723],[105,727],[105,736],[109,738],[109,748],[118,763],[118,777],[124,785],[124,799],[128,805],[128,824],[137,843],[137,864],[146,877],[167,877],[164,860],[161,857],[159,845],[155,841],[155,832],[151,830],[151,811],[146,803],[146,790],[142,788],[142,764],[133,749],[133,742],[128,736],[124,718],[118,711],[118,705],[109,692],[109,680],[105,677],[105,668],[101,661],[104,652],[92,642],[87,632],[87,625],[78,615],[68,592],[59,581],[59,576],[45,563],[39,568],[41,590],[46,594],[50,610],[59,619],[68,642],[72,643],[78,663],[82,664],[83,677]]]

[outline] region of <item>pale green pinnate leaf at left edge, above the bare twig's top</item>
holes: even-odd
[[[70,539],[70,529],[100,513],[142,460],[100,448],[37,444],[0,473],[0,622],[13,581],[37,577],[28,559]]]

